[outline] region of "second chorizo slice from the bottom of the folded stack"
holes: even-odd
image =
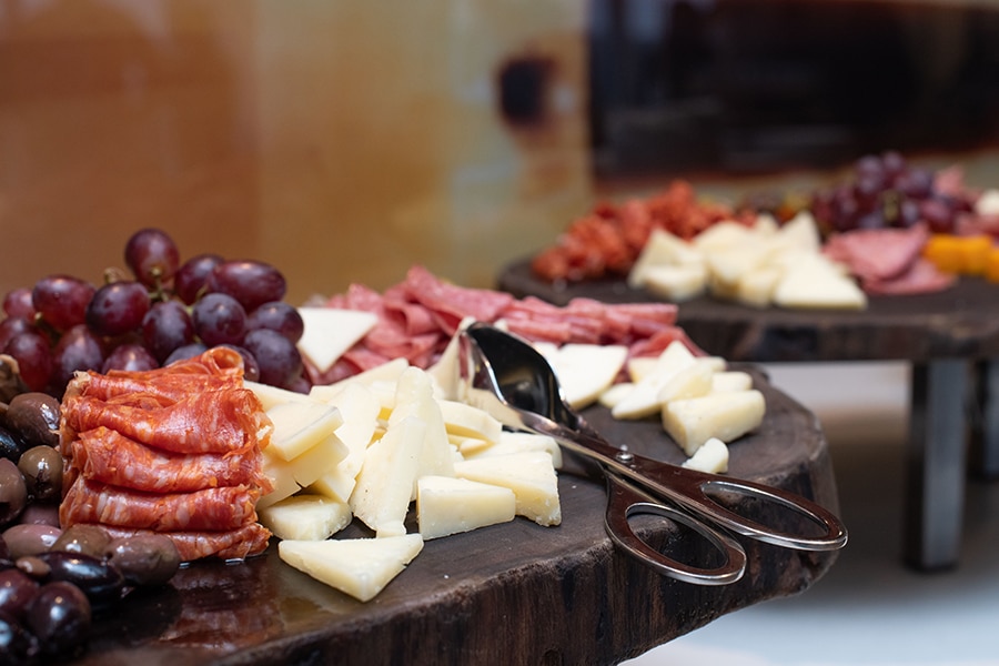
[[[62,498],[59,521],[154,532],[229,531],[256,521],[259,498],[260,491],[248,486],[143,493],[80,478]]]

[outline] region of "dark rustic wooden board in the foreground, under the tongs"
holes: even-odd
[[[758,432],[733,443],[731,475],[838,511],[817,420],[749,370],[767,414]],[[616,422],[603,407],[584,415],[612,442],[683,460],[656,420]],[[602,483],[562,474],[559,492],[561,526],[517,518],[427,542],[366,604],[285,566],[274,544],[241,564],[195,563],[171,585],[99,616],[88,653],[73,663],[614,664],[723,614],[801,592],[836,558],[743,539],[749,564],[741,581],[679,583],[613,546]],[[642,529],[654,542],[676,542],[673,553],[694,557],[698,549],[668,524]],[[352,525],[346,535],[366,534]]]

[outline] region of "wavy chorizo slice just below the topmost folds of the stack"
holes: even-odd
[[[63,401],[62,420],[75,433],[105,426],[173,453],[246,451],[265,444],[273,427],[249,389],[195,393],[155,410],[75,396]]]

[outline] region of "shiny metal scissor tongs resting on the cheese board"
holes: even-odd
[[[749,481],[670,465],[604,440],[564,401],[552,366],[526,341],[485,323],[473,323],[458,340],[464,398],[504,425],[553,437],[572,453],[596,463],[607,481],[605,523],[610,538],[626,552],[667,576],[702,585],[738,581],[746,568],[736,534],[803,551],[834,551],[847,542],[840,521],[804,497]],[[735,513],[706,491],[729,492],[779,505],[808,518],[816,536],[784,533]],[[667,557],[645,543],[629,518],[652,514],[683,524],[718,549],[724,562],[700,568]]]

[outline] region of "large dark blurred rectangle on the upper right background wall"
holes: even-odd
[[[999,7],[594,0],[598,176],[828,169],[999,143]]]

